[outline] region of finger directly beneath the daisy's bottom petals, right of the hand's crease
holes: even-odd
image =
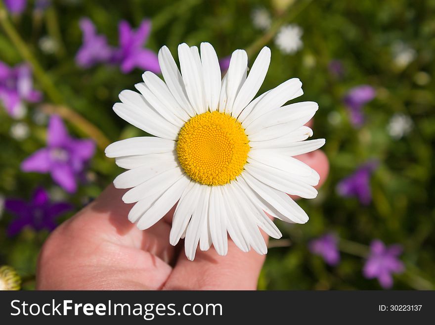
[[[264,240],[268,236],[261,231]],[[228,240],[228,253],[219,256],[212,247],[198,250],[189,261],[182,252],[174,270],[165,283],[165,290],[255,290],[265,255],[251,250],[241,251]]]

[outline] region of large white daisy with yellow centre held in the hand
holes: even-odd
[[[226,255],[227,233],[247,252],[267,252],[260,229],[281,237],[269,215],[304,224],[308,216],[286,193],[314,198],[319,175],[292,156],[321,147],[324,139],[304,141],[304,124],[315,102],[284,105],[303,94],[297,78],[256,99],[270,63],[263,47],[247,76],[248,56],[232,53],[221,80],[217,54],[209,43],[178,46],[181,73],[168,47],[159,51],[165,81],[145,72],[139,93],[125,90],[113,109],[121,118],[154,135],[110,144],[108,157],[128,169],[114,180],[131,188],[123,196],[135,203],[129,220],[140,230],[158,222],[177,202],[170,242],[185,237],[188,259],[199,244],[213,244]],[[253,100],[254,99],[254,100]],[[283,106],[284,105],[284,106]]]

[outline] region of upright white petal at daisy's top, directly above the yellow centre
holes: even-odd
[[[219,60],[210,43],[201,43],[201,62],[207,105],[213,112],[219,105],[221,78]]]

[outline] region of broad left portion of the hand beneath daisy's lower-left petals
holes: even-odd
[[[127,219],[124,191],[109,186],[44,243],[38,261],[39,289],[158,289],[168,279],[174,248],[170,226],[138,230]]]

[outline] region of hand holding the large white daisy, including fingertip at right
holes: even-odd
[[[297,157],[325,181],[329,163],[321,150]],[[169,243],[172,208],[153,227],[140,231],[122,202],[126,190],[108,186],[101,195],[48,237],[37,267],[41,290],[254,290],[265,255],[242,252],[228,240],[228,254],[212,247],[184,255],[183,240]],[[262,232],[264,239],[268,236]]]

